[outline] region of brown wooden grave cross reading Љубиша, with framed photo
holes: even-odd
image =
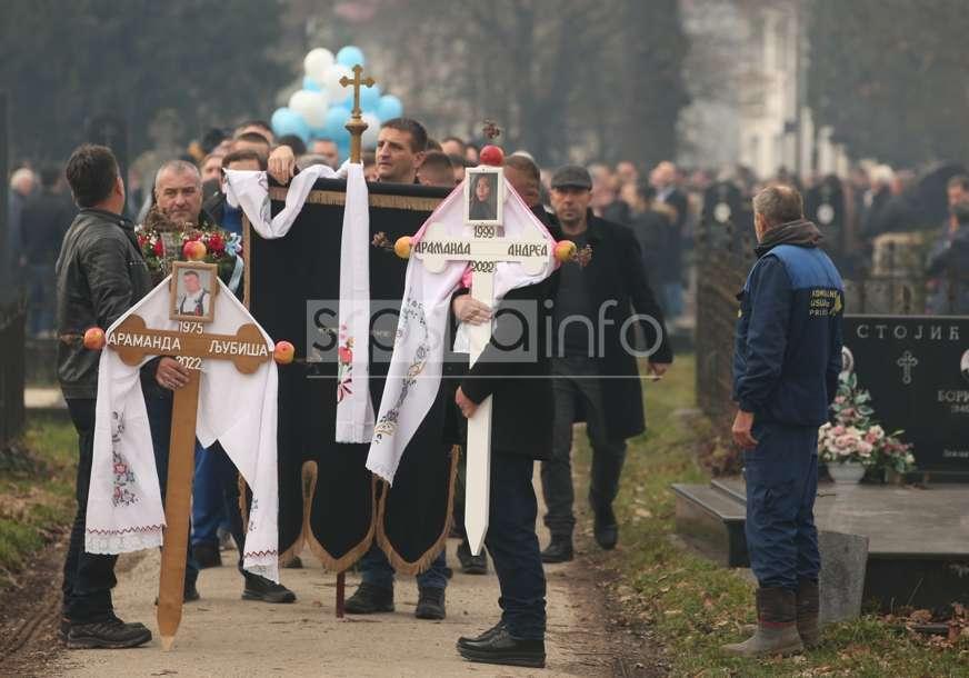
[[[189,269],[209,270],[216,280],[213,263],[176,262],[171,278],[171,295],[176,296],[178,273]],[[218,290],[218,286],[212,289]],[[217,297],[210,300],[214,317]],[[174,391],[171,412],[171,442],[168,460],[168,489],[164,501],[164,541],[161,548],[161,579],[158,589],[158,629],[161,645],[168,650],[181,622],[184,597],[186,557],[188,555],[189,512],[194,473],[196,418],[199,407],[199,378],[202,360],[231,360],[236,369],[251,375],[272,358],[262,332],[254,323],[239,327],[236,335],[210,335],[204,325],[180,320],[178,330],[156,330],[146,326],[141,316],[128,316],[107,338],[108,347],[124,365],[138,366],[146,356],[170,356],[189,372],[186,386]]]

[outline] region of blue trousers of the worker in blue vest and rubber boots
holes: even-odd
[[[818,429],[755,421],[752,433],[758,445],[743,460],[750,567],[761,588],[797,590],[798,579],[817,581],[821,570]]]

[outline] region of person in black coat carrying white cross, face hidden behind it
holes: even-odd
[[[484,544],[501,588],[501,619],[473,638],[460,638],[458,652],[471,661],[545,666],[546,579],[535,522],[538,502],[531,483],[536,459],[546,460],[552,442],[552,387],[546,337],[559,272],[511,290],[495,312],[491,340],[461,378],[454,402],[467,418],[492,398],[491,502]],[[480,325],[491,309],[468,290],[452,301],[454,318]],[[513,307],[513,311],[506,309]],[[522,315],[533,342],[522,337]],[[526,351],[525,355],[516,355]]]

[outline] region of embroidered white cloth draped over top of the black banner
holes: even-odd
[[[286,207],[270,213],[266,172],[227,170],[227,199],[239,205],[252,228],[267,239],[289,232],[319,178],[347,178],[343,231],[340,240],[340,307],[337,353],[337,442],[370,442],[373,402],[370,399],[370,203],[363,166],[344,162],[339,172],[313,164],[290,182]]]

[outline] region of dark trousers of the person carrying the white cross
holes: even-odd
[[[484,545],[495,564],[501,619],[515,638],[541,639],[546,630],[546,579],[535,521],[535,462],[491,451],[491,505]]]

